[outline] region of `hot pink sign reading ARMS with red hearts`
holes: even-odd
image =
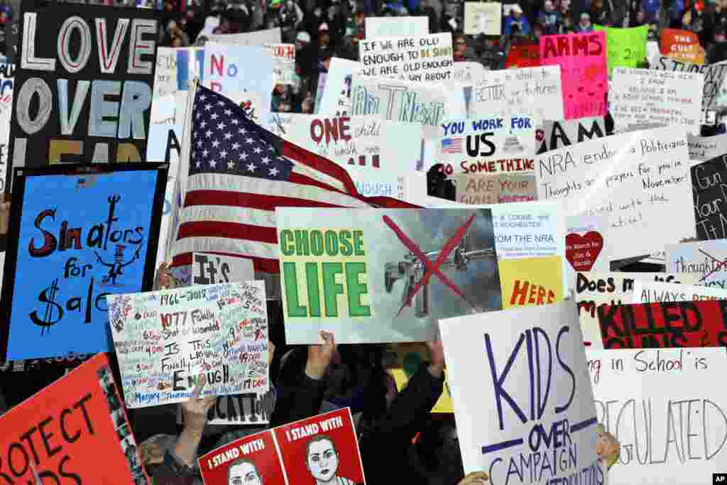
[[[603,32],[542,36],[540,64],[561,66],[565,119],[606,115],[608,74]]]

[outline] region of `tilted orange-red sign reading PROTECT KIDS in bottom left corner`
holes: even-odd
[[[151,483],[104,354],[10,409],[0,427],[6,483]]]

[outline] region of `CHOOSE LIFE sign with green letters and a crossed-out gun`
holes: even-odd
[[[500,308],[489,209],[278,208],[276,220],[291,344],[321,329],[338,343],[426,342],[438,318]]]

